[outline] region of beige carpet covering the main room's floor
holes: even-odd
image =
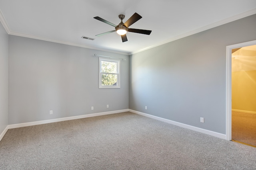
[[[0,170],[255,170],[256,148],[135,113],[9,129]]]

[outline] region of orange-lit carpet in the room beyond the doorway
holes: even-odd
[[[232,111],[232,139],[256,146],[256,114]]]

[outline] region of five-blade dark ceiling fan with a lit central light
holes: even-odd
[[[128,28],[130,25],[132,25],[133,23],[135,23],[136,21],[138,21],[142,18],[142,16],[140,16],[136,12],[125,23],[123,23],[124,15],[121,14],[118,17],[121,20],[121,22],[118,25],[115,25],[115,24],[113,24],[109,21],[106,21],[106,20],[104,20],[100,17],[94,17],[96,20],[99,20],[99,21],[102,21],[102,22],[107,23],[109,25],[112,25],[116,29],[116,30],[108,31],[106,33],[101,33],[101,34],[98,34],[98,35],[95,35],[95,36],[101,36],[101,35],[105,35],[105,34],[112,33],[112,32],[116,31],[116,33],[121,35],[122,41],[125,42],[125,41],[128,41],[128,39],[126,37],[127,31],[128,32],[133,32],[133,33],[140,33],[140,34],[150,35],[150,33],[151,33],[150,30]]]

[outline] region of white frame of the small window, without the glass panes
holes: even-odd
[[[117,63],[117,82],[115,86],[102,86],[102,74],[115,74],[115,73],[105,73],[101,71],[101,61],[108,61],[108,62],[114,62]],[[106,59],[106,58],[102,58],[99,57],[99,88],[120,88],[120,60],[117,59]]]

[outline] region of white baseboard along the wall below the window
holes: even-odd
[[[82,119],[82,118],[86,118],[86,117],[95,117],[95,116],[109,115],[109,114],[114,114],[114,113],[122,113],[122,112],[126,112],[126,111],[129,111],[129,109],[107,111],[107,112],[102,112],[102,113],[92,113],[92,114],[88,114],[88,115],[79,115],[79,116],[72,116],[72,117],[63,117],[63,118],[43,120],[43,121],[33,121],[33,122],[28,122],[28,123],[18,123],[18,124],[8,125],[7,127],[8,127],[8,129],[13,129],[13,128],[18,128],[18,127],[41,125],[41,124],[54,123],[54,122],[59,122],[59,121]]]

